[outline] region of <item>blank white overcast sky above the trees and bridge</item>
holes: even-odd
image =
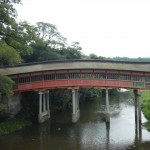
[[[149,0],[22,0],[18,20],[55,24],[86,55],[150,57]]]

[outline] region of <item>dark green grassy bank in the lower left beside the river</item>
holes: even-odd
[[[0,123],[0,135],[12,133],[28,125],[31,125],[31,122],[22,119],[9,119]]]

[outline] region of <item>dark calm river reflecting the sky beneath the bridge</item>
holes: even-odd
[[[149,150],[150,132],[137,133],[134,101],[128,92],[110,98],[110,126],[104,121],[105,99],[80,104],[81,116],[71,123],[71,112],[0,137],[0,150]],[[142,122],[145,121],[142,115]]]

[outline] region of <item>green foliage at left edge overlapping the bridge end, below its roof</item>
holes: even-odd
[[[0,75],[0,93],[11,95],[13,94],[13,83],[9,77]]]

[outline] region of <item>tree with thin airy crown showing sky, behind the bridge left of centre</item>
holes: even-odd
[[[38,22],[36,26],[29,27],[33,31],[30,39],[30,46],[33,49],[33,53],[30,56],[25,57],[26,62],[45,61],[61,59],[62,56],[59,53],[64,45],[66,39],[58,32],[55,25]],[[31,33],[31,32],[29,32]]]

